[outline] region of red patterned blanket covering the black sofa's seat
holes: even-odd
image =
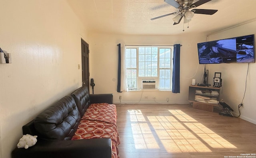
[[[119,158],[120,138],[116,126],[116,106],[114,104],[91,104],[81,118],[72,140],[111,138],[112,158]]]

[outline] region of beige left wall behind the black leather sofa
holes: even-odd
[[[22,125],[80,87],[81,37],[88,35],[66,0],[0,0],[0,158],[10,158]]]

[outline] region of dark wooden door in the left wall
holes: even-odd
[[[89,45],[81,39],[82,50],[82,86],[87,86],[90,90],[89,73]]]

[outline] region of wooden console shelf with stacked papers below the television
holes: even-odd
[[[189,86],[188,101],[193,102],[193,108],[213,112],[214,106],[219,106],[220,88],[206,86]]]

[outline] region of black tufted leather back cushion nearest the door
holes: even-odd
[[[90,97],[87,86],[82,86],[75,90],[71,96],[74,98],[80,115],[83,116],[90,106]]]

